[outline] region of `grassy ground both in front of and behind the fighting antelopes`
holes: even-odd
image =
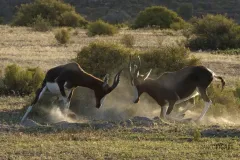
[[[174,43],[180,33],[172,31],[126,31],[113,37],[87,37],[72,30],[71,42],[58,45],[53,32],[0,26],[0,67],[17,63],[47,70],[69,62],[83,46],[95,40],[119,42],[123,34],[137,39],[136,49],[157,47],[159,41]],[[239,81],[240,56],[192,53],[228,82]],[[0,97],[0,159],[239,159],[239,126],[160,124],[154,127],[117,127],[110,130],[51,126],[22,128],[20,109],[29,97]],[[135,131],[143,128],[144,131]],[[205,134],[215,128],[213,135]],[[199,130],[199,131],[198,131]],[[202,136],[200,134],[202,132]],[[219,133],[219,134],[217,134]],[[200,134],[200,135],[199,135]],[[214,136],[215,135],[215,136]]]

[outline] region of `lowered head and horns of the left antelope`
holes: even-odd
[[[120,75],[123,69],[121,69],[114,77],[113,84],[109,86],[108,80],[109,75],[107,74],[101,83],[101,86],[99,89],[95,90],[95,98],[96,98],[96,108],[100,108],[103,105],[103,102],[106,98],[106,95],[112,92],[120,81]]]

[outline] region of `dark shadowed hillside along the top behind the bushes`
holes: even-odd
[[[0,17],[5,23],[9,22],[16,6],[33,0],[1,0]],[[132,21],[145,7],[164,5],[175,11],[185,4],[193,5],[193,15],[201,16],[206,13],[227,14],[240,23],[240,0],[64,0],[75,6],[76,10],[88,20],[104,19],[112,23]]]

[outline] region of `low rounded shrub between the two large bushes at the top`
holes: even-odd
[[[117,33],[117,27],[108,24],[102,20],[90,23],[88,26],[88,35],[114,35]]]

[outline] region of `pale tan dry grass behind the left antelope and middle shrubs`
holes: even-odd
[[[26,27],[0,26],[0,67],[11,63],[27,66],[41,66],[47,70],[50,67],[67,63],[75,58],[76,52],[83,46],[97,40],[120,43],[123,34],[132,34],[136,39],[135,48],[147,49],[156,47],[158,39],[164,38],[165,43],[174,42],[178,37],[169,36],[171,31],[128,31],[122,30],[116,36],[88,37],[86,30],[72,30],[70,43],[59,45],[54,38],[54,31],[35,32]]]

